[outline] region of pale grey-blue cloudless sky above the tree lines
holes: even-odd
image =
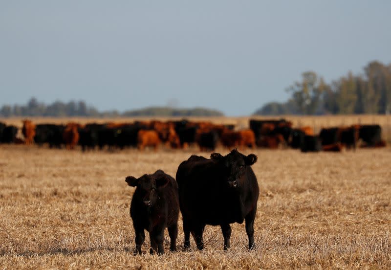
[[[0,0],[0,106],[85,100],[98,110],[285,101],[391,63],[389,0]]]

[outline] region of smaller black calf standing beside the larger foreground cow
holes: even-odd
[[[130,203],[130,217],[136,233],[134,254],[141,254],[144,243],[144,230],[150,233],[150,252],[164,253],[164,229],[168,228],[171,239],[170,250],[176,250],[178,234],[178,185],[174,178],[157,170],[154,174],[145,174],[139,179],[126,178],[130,186],[136,186]]]

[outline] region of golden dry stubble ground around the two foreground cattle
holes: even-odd
[[[219,227],[207,226],[205,250],[133,256],[125,177],[163,169],[175,177],[196,148],[66,151],[0,145],[0,269],[390,269],[391,149],[303,154],[255,153],[261,193],[257,248],[244,224],[232,225],[224,252]],[[225,149],[217,152],[227,154]],[[148,235],[148,234],[147,234]],[[147,251],[149,237],[143,246]]]

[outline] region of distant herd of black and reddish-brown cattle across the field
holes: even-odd
[[[324,128],[318,135],[311,127],[294,128],[285,119],[255,120],[249,129],[235,131],[234,125],[218,125],[211,122],[180,121],[135,121],[133,123],[78,123],[35,124],[23,121],[22,136],[18,128],[0,122],[1,143],[43,144],[50,148],[73,149],[80,145],[83,151],[103,149],[146,147],[157,149],[165,145],[173,149],[198,145],[201,151],[214,151],[218,145],[235,147],[264,147],[275,149],[291,147],[303,152],[341,151],[343,148],[381,147],[382,129],[379,125],[352,125],[349,127]]]

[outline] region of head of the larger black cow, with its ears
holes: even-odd
[[[221,164],[226,176],[225,180],[230,188],[240,187],[239,178],[244,174],[245,168],[257,161],[256,155],[250,154],[244,156],[236,149],[232,150],[231,153],[225,157],[218,153],[213,153],[211,158],[217,160]]]

